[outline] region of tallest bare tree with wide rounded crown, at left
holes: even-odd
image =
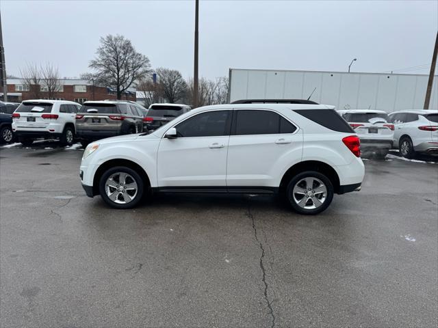
[[[97,83],[117,90],[117,99],[134,82],[151,72],[148,57],[138,53],[124,36],[111,34],[101,38],[101,45],[89,67],[96,70],[94,77]]]

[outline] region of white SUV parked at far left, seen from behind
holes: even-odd
[[[35,139],[60,139],[70,146],[75,139],[75,116],[81,105],[67,100],[25,100],[12,114],[12,131],[29,146]]]

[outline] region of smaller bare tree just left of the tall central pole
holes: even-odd
[[[164,98],[170,103],[179,102],[185,98],[187,83],[178,70],[157,68],[159,84],[162,85]]]

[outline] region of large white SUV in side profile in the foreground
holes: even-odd
[[[244,104],[194,109],[146,135],[86,148],[83,189],[114,208],[157,192],[284,193],[303,214],[359,190],[359,137],[333,107]]]

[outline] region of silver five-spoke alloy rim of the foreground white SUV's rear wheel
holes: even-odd
[[[327,187],[318,178],[302,178],[295,184],[292,191],[294,202],[306,210],[319,208],[325,202],[326,197]]]

